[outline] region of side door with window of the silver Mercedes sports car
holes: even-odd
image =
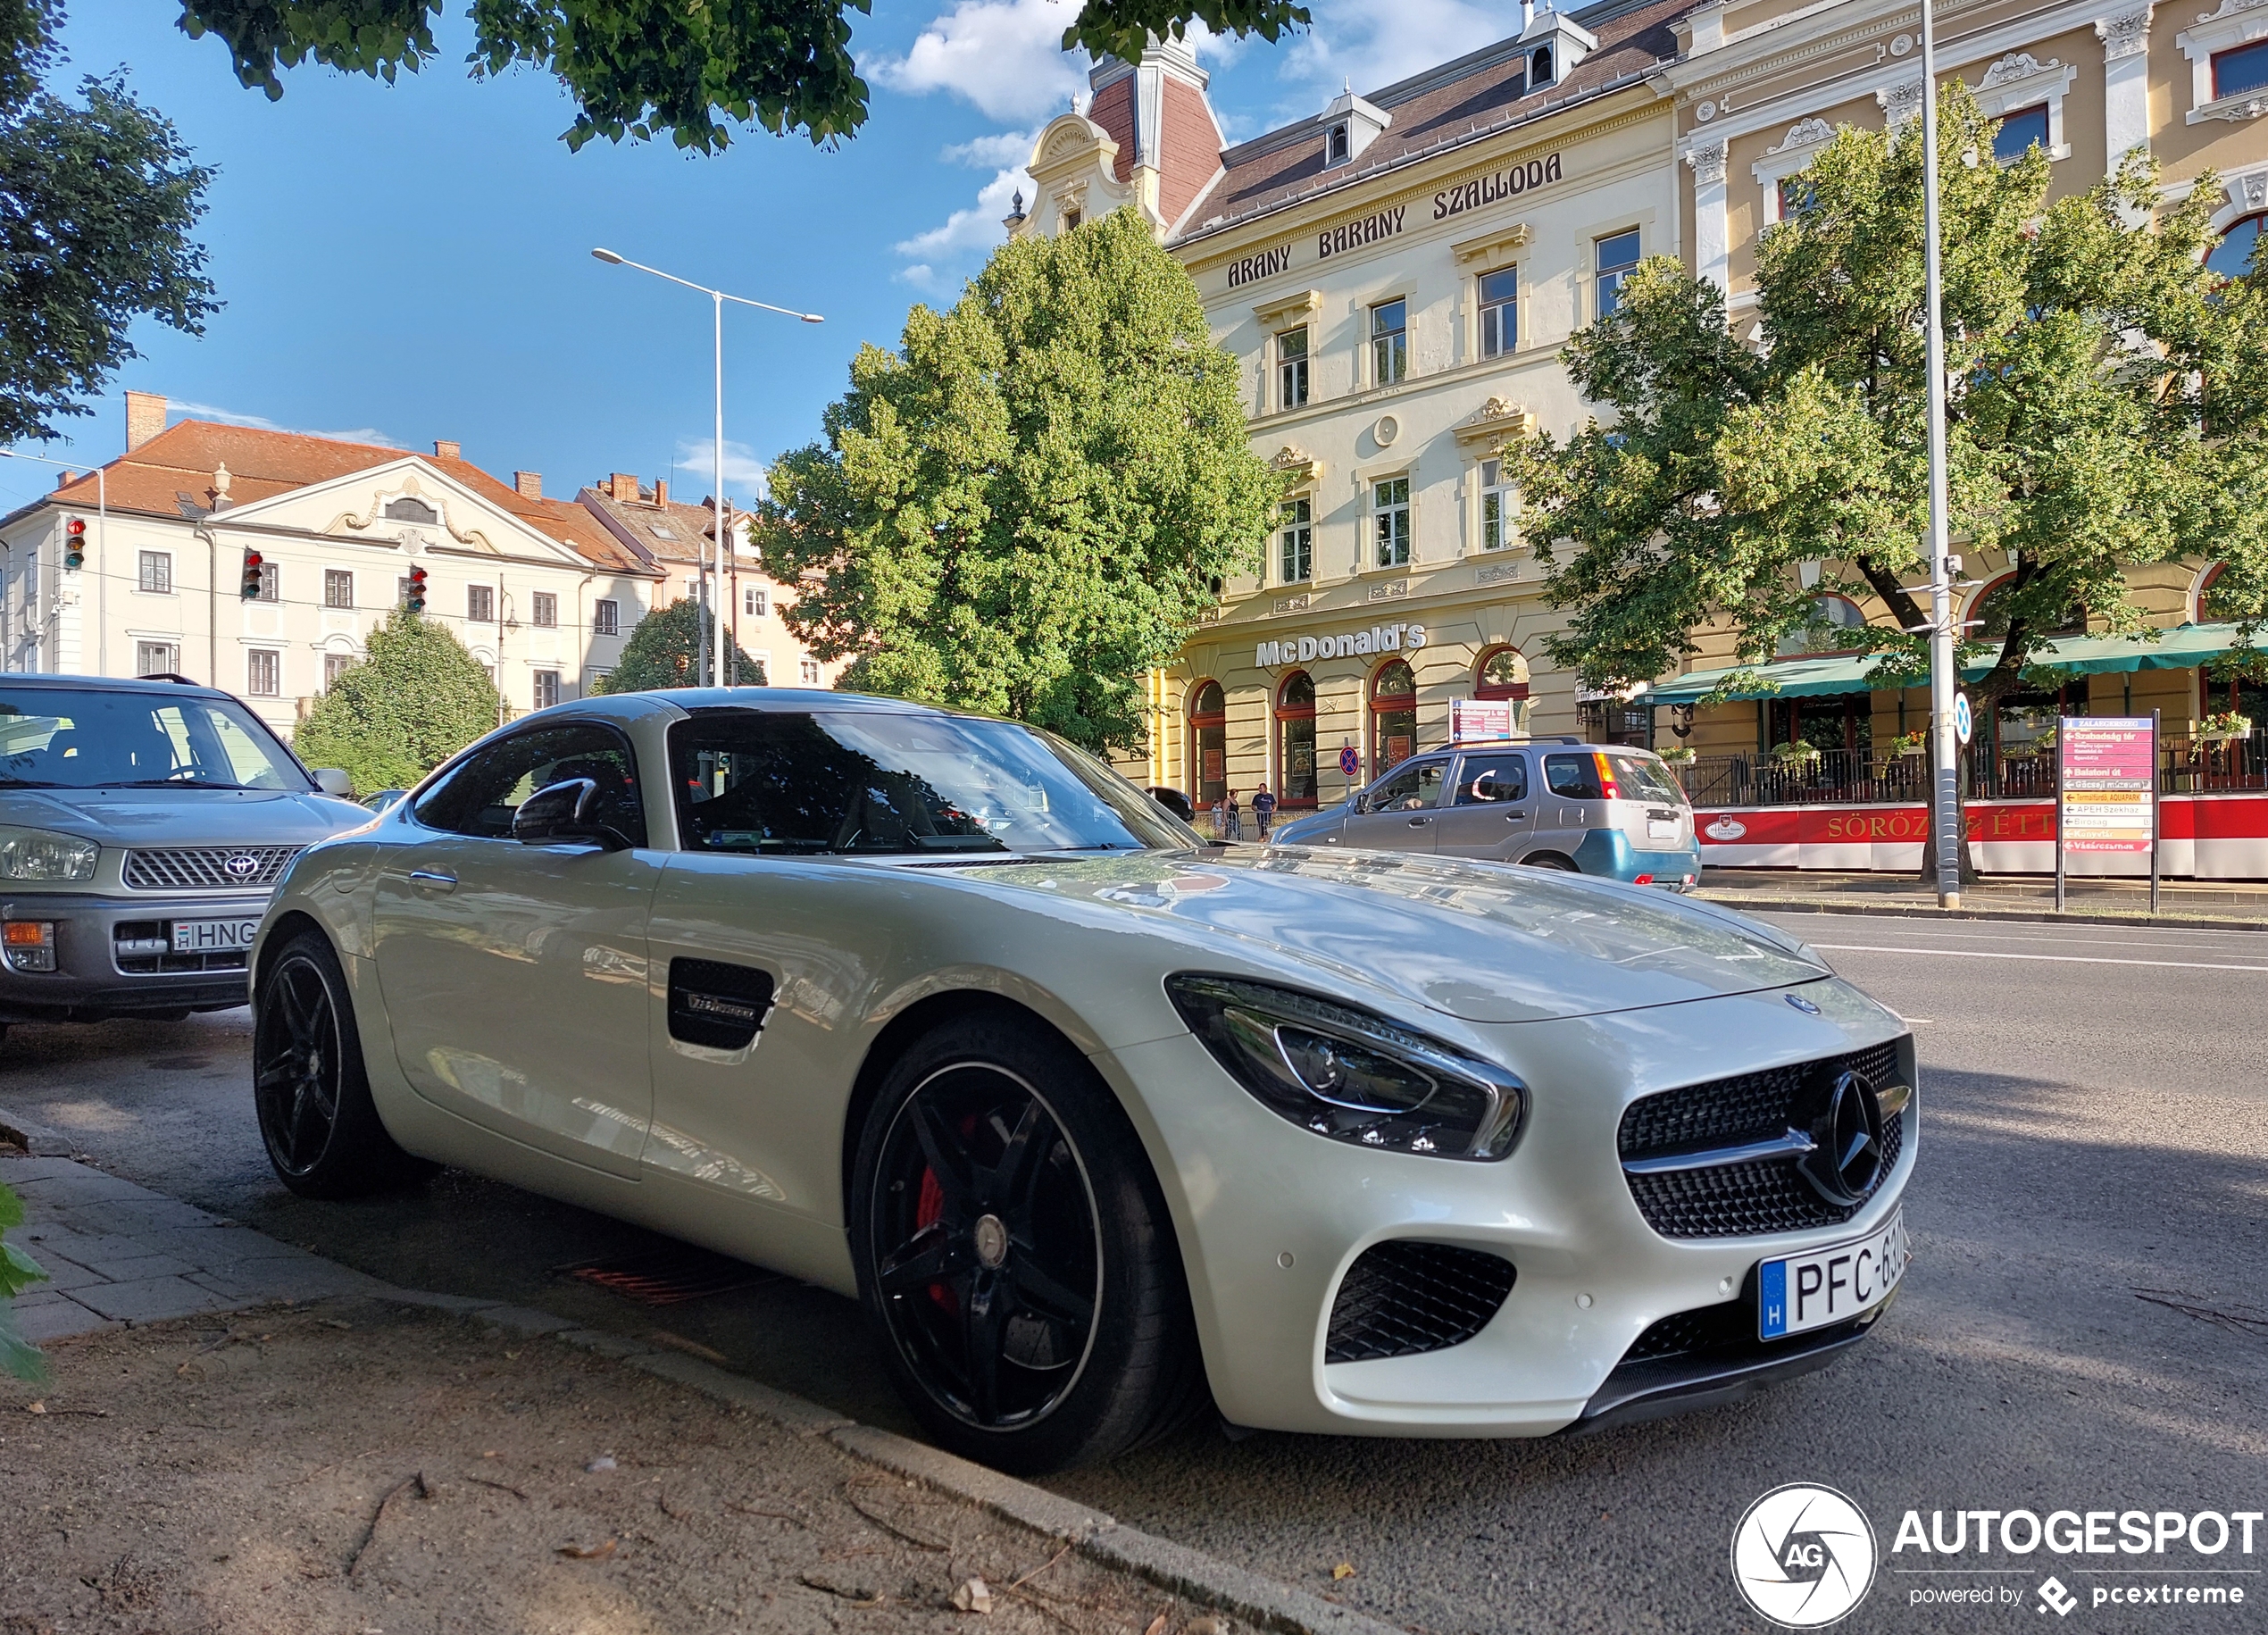
[[[517,805],[592,778],[631,846],[524,846]],[[653,1109],[646,918],[667,853],[646,848],[631,742],[567,721],[483,746],[411,810],[372,907],[372,950],[411,1086],[460,1118],[576,1163],[637,1175]]]

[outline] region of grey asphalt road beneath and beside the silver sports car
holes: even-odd
[[[1794,914],[1851,980],[1914,1023],[1916,1261],[1873,1340],[1823,1374],[1715,1413],[1581,1442],[1393,1442],[1204,1429],[1061,1492],[1154,1533],[1422,1630],[1762,1628],[1728,1540],[1785,1481],[1848,1492],[1887,1549],[1905,1510],[2268,1510],[2268,934]],[[104,1166],[363,1270],[667,1327],[748,1374],[907,1429],[841,1299],[794,1284],[653,1311],[562,1281],[660,1240],[445,1175],[408,1200],[315,1206],[268,1175],[243,1011],[175,1025],[18,1027],[0,1107]],[[2170,1304],[2168,1304],[2170,1302]],[[2243,1608],[2093,1608],[2105,1585],[2193,1560],[2032,1558],[1921,1576],[1885,1558],[1842,1628],[2039,1628],[2048,1572],[2073,1628],[2268,1624],[2257,1556],[2214,1558]],[[1973,1562],[1971,1562],[1973,1565]],[[2005,1567],[2007,1558],[1989,1565]],[[2236,1569],[2252,1576],[2236,1576]],[[2189,1583],[2200,1583],[2191,1578]],[[1912,1606],[2005,1585],[2005,1606]]]

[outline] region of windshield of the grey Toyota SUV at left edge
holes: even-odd
[[[0,787],[290,789],[308,778],[234,698],[0,687]]]

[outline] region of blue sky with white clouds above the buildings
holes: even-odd
[[[1311,0],[1313,32],[1200,41],[1232,141],[1377,88],[1517,27],[1513,5]],[[463,0],[442,59],[386,86],[302,66],[281,102],[243,91],[225,48],[166,0],[77,0],[57,75],[125,68],[220,175],[202,240],[227,302],[202,338],[159,324],[68,440],[95,465],[125,438],[125,388],[175,417],[429,449],[456,438],[497,472],[572,494],[606,472],[710,490],[710,313],[689,290],[590,259],[608,245],[701,283],[819,311],[726,311],[728,488],[819,433],[862,340],[894,345],[916,299],[950,302],[1002,238],[1032,134],[1084,91],[1055,41],[1064,0],[875,0],[853,14],[873,107],[835,150],[742,134],[721,156],[558,134],[544,75],[472,82]],[[0,510],[52,483],[0,460]]]

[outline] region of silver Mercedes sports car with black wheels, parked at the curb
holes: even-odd
[[[1828,1363],[1905,1270],[1914,1050],[1581,875],[1220,853],[1023,726],[542,710],[306,850],[254,952],[284,1181],[456,1163],[855,1295],[939,1442],[1207,1399],[1549,1435]]]

